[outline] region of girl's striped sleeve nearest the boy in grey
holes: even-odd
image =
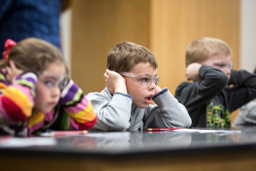
[[[61,121],[63,130],[87,130],[97,122],[91,101],[73,80],[62,90],[59,105],[65,109]]]

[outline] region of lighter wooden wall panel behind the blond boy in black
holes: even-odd
[[[150,49],[157,57],[159,86],[174,94],[185,81],[185,53],[189,42],[200,37],[219,38],[233,50],[239,68],[238,0],[152,0]]]

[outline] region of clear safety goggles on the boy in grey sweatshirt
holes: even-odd
[[[147,74],[132,74],[127,72],[118,72],[121,75],[130,76],[134,83],[139,84],[142,87],[148,88],[152,82],[157,86],[159,82],[159,76],[153,77]]]

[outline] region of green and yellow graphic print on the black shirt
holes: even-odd
[[[207,124],[206,127],[230,127],[230,113],[225,106],[214,105],[213,102],[207,106]],[[224,118],[223,118],[224,117]]]

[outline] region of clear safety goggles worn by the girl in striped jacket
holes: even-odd
[[[43,83],[47,88],[59,87],[60,90],[63,90],[68,84],[68,76],[60,75],[55,72],[43,71],[38,73],[38,81]]]

